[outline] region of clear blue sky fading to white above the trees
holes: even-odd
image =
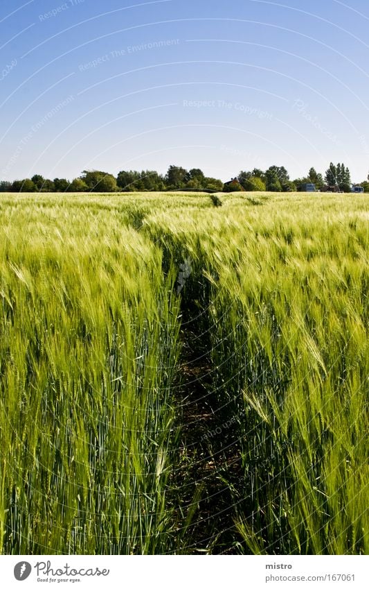
[[[1,0],[0,31],[0,180],[368,175],[368,0]]]

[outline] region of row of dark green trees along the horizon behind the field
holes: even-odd
[[[369,175],[361,182],[365,192],[369,192]],[[338,189],[350,192],[350,170],[345,164],[330,163],[325,175],[310,168],[307,176],[291,180],[283,166],[271,166],[266,171],[254,168],[241,171],[238,176],[223,183],[218,178],[205,176],[201,169],[186,170],[179,166],[170,166],[165,175],[154,170],[120,171],[115,177],[104,171],[84,170],[79,178],[71,182],[66,178],[49,180],[39,174],[24,180],[0,182],[1,192],[145,192],[166,190],[210,190],[216,192],[233,191],[298,191],[307,183],[315,185],[317,190]]]

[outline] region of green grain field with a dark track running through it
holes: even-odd
[[[368,211],[1,194],[1,554],[368,554]]]

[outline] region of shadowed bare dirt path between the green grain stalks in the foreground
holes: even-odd
[[[217,409],[208,345],[192,325],[183,328],[181,336],[181,385],[177,393],[181,466],[177,485],[186,522],[183,552],[219,554],[227,546],[227,554],[232,554],[229,546],[237,538],[228,481],[237,477],[240,454],[231,429],[224,427]]]

